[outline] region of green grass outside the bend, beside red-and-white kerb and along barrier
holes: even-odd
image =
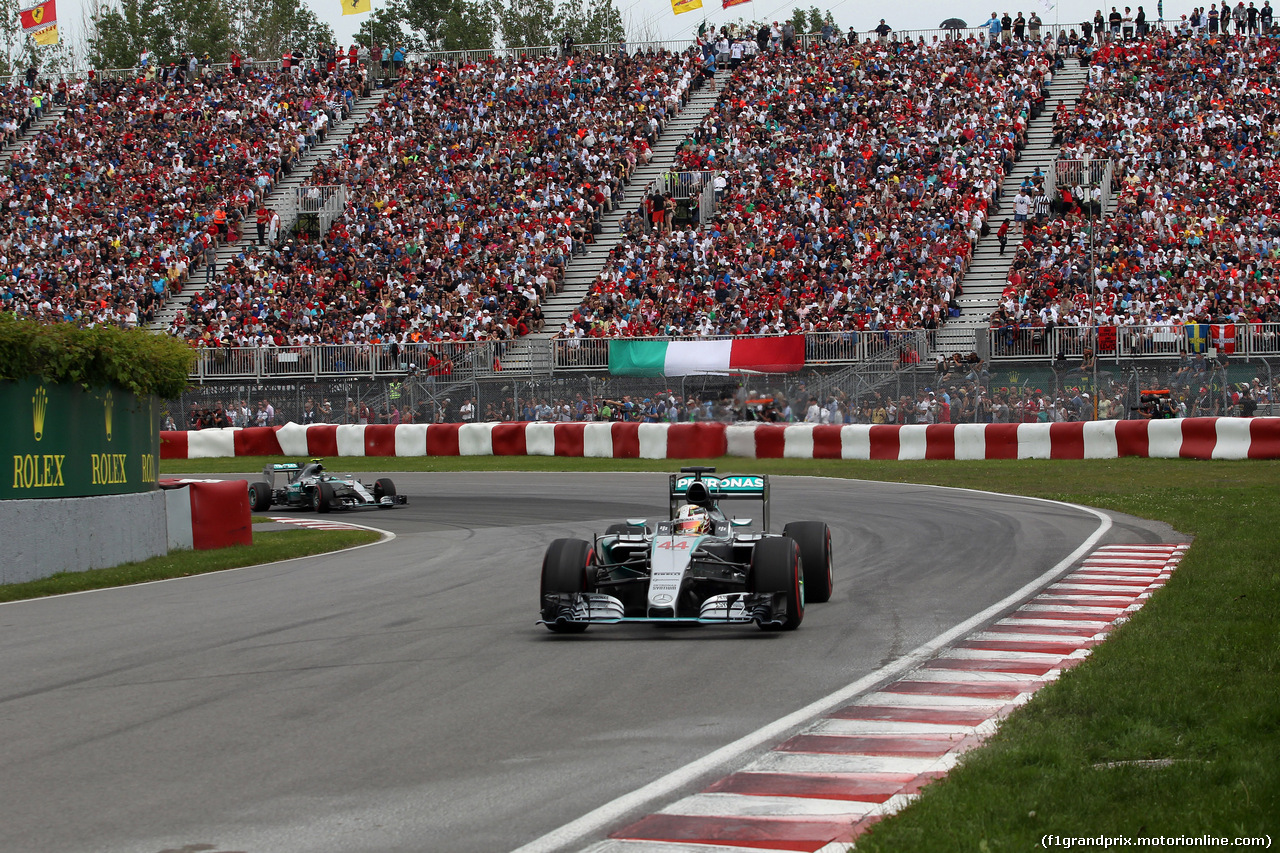
[[[166,460],[166,473],[279,460]],[[686,462],[686,464],[691,464]],[[1044,835],[1275,835],[1280,826],[1280,462],[708,460],[722,470],[932,483],[1166,521],[1196,544],[1135,617],[858,844],[1029,850]],[[664,460],[342,459],[351,471],[669,471]],[[1134,761],[1169,760],[1164,766]],[[1120,763],[1117,763],[1120,762]],[[1115,766],[1106,766],[1115,765]]]

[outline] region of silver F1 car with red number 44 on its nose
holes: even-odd
[[[794,630],[806,603],[831,598],[831,530],[792,521],[769,533],[769,478],[671,475],[667,520],[628,519],[604,535],[556,539],[543,558],[539,624],[576,634],[591,624],[750,624]],[[759,500],[762,532],[721,501]]]

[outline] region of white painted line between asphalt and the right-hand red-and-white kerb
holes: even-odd
[[[827,479],[827,478],[819,478],[819,479]],[[659,797],[666,797],[678,790],[680,788],[692,783],[698,777],[710,774],[722,765],[726,765],[730,761],[740,758],[742,754],[750,752],[751,749],[755,749],[756,747],[764,743],[776,740],[786,731],[801,726],[806,722],[810,722],[815,717],[854,698],[859,693],[863,693],[867,689],[882,681],[887,681],[893,676],[901,675],[902,672],[914,669],[915,666],[933,657],[933,654],[943,646],[951,643],[959,637],[964,637],[978,625],[982,625],[991,617],[1024,601],[1032,593],[1039,590],[1046,584],[1051,583],[1057,576],[1064,574],[1068,569],[1070,569],[1075,564],[1075,561],[1078,561],[1085,553],[1089,553],[1089,551],[1093,549],[1093,547],[1102,539],[1102,537],[1105,537],[1111,530],[1112,526],[1112,520],[1110,515],[1102,512],[1101,510],[1080,506],[1078,503],[1065,503],[1061,501],[1051,501],[1048,498],[1001,494],[998,492],[982,492],[980,489],[956,489],[954,487],[946,487],[946,485],[931,485],[919,483],[913,483],[911,485],[916,487],[924,485],[924,488],[946,488],[956,492],[975,492],[978,494],[998,494],[1000,497],[1004,498],[1011,497],[1023,501],[1037,501],[1042,503],[1053,503],[1056,506],[1068,506],[1074,510],[1079,510],[1087,515],[1097,517],[1100,523],[1098,528],[1092,534],[1089,534],[1089,537],[1084,542],[1082,542],[1079,547],[1075,548],[1075,551],[1069,553],[1057,565],[1055,565],[1052,569],[1042,574],[1039,578],[1023,585],[1016,592],[1006,596],[1005,598],[1000,599],[995,605],[991,605],[986,610],[970,616],[969,619],[964,620],[952,629],[943,631],[942,634],[938,634],[933,639],[919,646],[915,651],[910,652],[905,657],[901,657],[887,666],[882,666],[874,672],[864,675],[852,684],[844,686],[836,690],[835,693],[831,693],[829,695],[818,699],[817,702],[812,702],[805,707],[800,708],[799,711],[794,711],[780,720],[776,720],[760,729],[756,729],[750,734],[742,735],[737,740],[728,743],[721,747],[719,749],[716,749],[703,756],[701,758],[691,761],[684,767],[678,767],[671,771],[666,776],[660,776],[659,779],[655,779],[652,783],[643,785],[628,794],[623,794],[622,797],[618,797],[617,799],[588,812],[582,817],[570,821],[568,824],[564,824],[559,829],[554,829],[550,833],[543,835],[541,838],[536,838],[532,841],[529,841],[527,844],[516,848],[515,850],[512,850],[512,853],[552,853],[553,850],[558,850],[570,844],[579,843],[586,835],[598,833],[599,830],[620,820],[628,812],[636,811],[644,807],[645,804],[653,802],[654,799],[658,799]]]

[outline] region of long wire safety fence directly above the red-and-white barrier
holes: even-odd
[[[795,374],[613,377],[557,370],[545,375],[431,375],[210,380],[166,402],[159,428],[289,420],[329,424],[460,423],[472,420],[589,420],[605,405],[627,420],[797,421],[809,406],[823,423],[1021,423],[1144,416],[1153,398],[1181,416],[1280,414],[1275,368],[1280,360],[1189,359],[1084,370],[1079,361],[901,365],[890,357],[806,368]],[[929,392],[934,392],[931,396]],[[943,401],[947,403],[942,406]],[[269,406],[269,409],[268,409]],[[874,419],[879,419],[876,421]],[[168,425],[166,425],[168,424]]]

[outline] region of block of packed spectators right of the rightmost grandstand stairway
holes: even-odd
[[[1057,117],[1064,159],[1115,161],[1116,209],[1094,231],[1092,282],[1088,210],[1066,207],[1018,248],[992,325],[1116,327],[1117,341],[1144,351],[1157,336],[1180,338],[1187,323],[1233,323],[1243,337],[1280,318],[1266,284],[1276,275],[1274,200],[1262,188],[1276,143],[1247,118],[1271,111],[1274,95],[1228,86],[1219,101],[1199,104],[1192,82],[1207,63],[1228,81],[1271,74],[1276,60],[1244,36],[1221,55],[1197,40],[1157,35],[1097,53],[1097,85]],[[1166,109],[1146,109],[1155,91]],[[1193,137],[1181,131],[1189,126],[1204,131]],[[1089,196],[1088,206],[1101,207],[1101,187]],[[1238,213],[1215,218],[1228,210]],[[1202,382],[1204,371],[1194,375]]]

